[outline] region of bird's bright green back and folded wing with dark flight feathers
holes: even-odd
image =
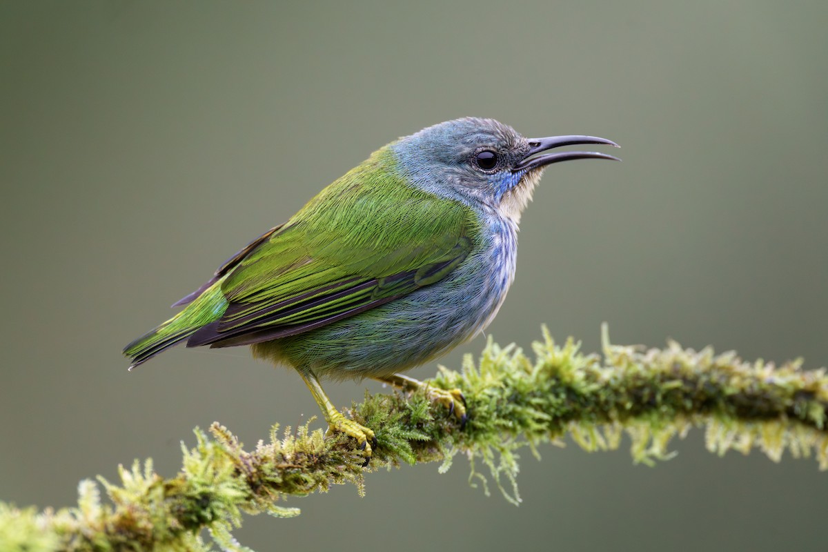
[[[227,310],[188,347],[310,331],[440,281],[469,255],[479,228],[471,209],[402,183],[383,182],[393,192],[383,194],[376,184],[349,173],[233,257],[222,269]]]

